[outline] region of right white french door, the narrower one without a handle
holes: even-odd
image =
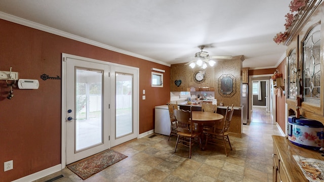
[[[111,146],[138,136],[138,69],[111,66]]]

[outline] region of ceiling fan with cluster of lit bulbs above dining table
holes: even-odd
[[[208,52],[203,51],[205,48],[205,45],[199,45],[198,48],[200,49],[200,52],[197,52],[194,57],[195,60],[190,61],[189,63],[185,65],[189,65],[191,68],[194,68],[196,65],[205,69],[207,68],[207,64],[210,66],[215,65],[215,61],[212,59],[232,59],[232,56],[210,56]]]

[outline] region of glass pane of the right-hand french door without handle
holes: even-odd
[[[120,138],[133,130],[133,75],[116,73],[116,135]]]

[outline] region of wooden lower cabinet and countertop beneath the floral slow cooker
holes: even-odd
[[[295,161],[293,155],[323,160],[319,152],[292,144],[286,137],[272,135],[273,139],[273,181],[309,181]]]

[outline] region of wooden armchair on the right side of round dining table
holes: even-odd
[[[233,105],[231,106],[231,109],[229,109],[229,106],[227,106],[225,117],[224,117],[224,124],[222,128],[219,128],[217,124],[215,124],[213,127],[211,127],[209,130],[206,131],[206,146],[208,143],[220,145],[219,140],[223,141],[223,146],[225,149],[225,154],[228,156],[227,150],[226,150],[226,143],[229,144],[230,149],[232,150],[231,143],[229,141],[228,133],[229,133],[229,127],[230,122],[232,120],[234,108]]]

